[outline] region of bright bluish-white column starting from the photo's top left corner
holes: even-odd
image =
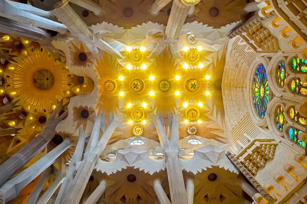
[[[60,24],[47,18],[43,18],[32,13],[17,9],[6,2],[6,0],[0,0],[0,16],[12,19],[14,21],[33,24],[41,28],[54,30],[60,32],[61,34],[67,33],[67,28],[64,24]]]

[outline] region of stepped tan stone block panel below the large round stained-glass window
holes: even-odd
[[[258,142],[246,149],[245,153],[239,156],[239,161],[243,166],[255,176],[259,170],[266,165],[266,162],[274,158],[277,142]]]

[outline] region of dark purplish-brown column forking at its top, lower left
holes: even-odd
[[[0,187],[52,140],[56,125],[67,115],[65,112],[56,118],[61,109],[62,104],[58,103],[41,133],[0,166]]]

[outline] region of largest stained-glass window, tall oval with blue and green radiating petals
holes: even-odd
[[[269,101],[269,84],[263,64],[256,68],[253,89],[255,111],[260,118],[264,118]]]

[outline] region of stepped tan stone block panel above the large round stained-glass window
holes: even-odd
[[[245,36],[253,42],[258,51],[280,50],[278,39],[271,35],[270,30],[258,24],[245,32]]]

